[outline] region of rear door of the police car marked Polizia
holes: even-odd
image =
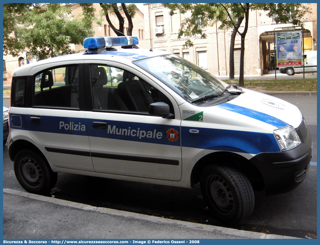
[[[54,166],[93,171],[85,125],[83,61],[33,67],[32,106],[26,109],[29,135]],[[41,76],[37,84],[36,79]]]

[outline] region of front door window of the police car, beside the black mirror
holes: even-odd
[[[148,112],[159,102],[159,92],[132,72],[91,64],[90,76],[94,109]]]

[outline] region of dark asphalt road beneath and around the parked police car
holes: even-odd
[[[317,234],[317,99],[316,96],[281,96],[280,98],[298,106],[305,117],[313,135],[313,166],[310,167],[306,180],[289,193],[266,197],[263,191],[256,191],[254,211],[241,224],[224,226],[216,221],[207,210],[198,185],[190,190],[59,173],[56,187],[50,195],[96,207],[108,207],[239,230],[314,238]],[[4,99],[4,103],[8,103],[8,100]],[[4,146],[3,151],[4,188],[24,191],[15,178],[6,147],[7,145]]]

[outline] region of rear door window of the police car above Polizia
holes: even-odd
[[[34,106],[79,108],[78,65],[55,67],[34,76]]]

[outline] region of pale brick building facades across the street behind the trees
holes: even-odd
[[[317,50],[317,4],[307,4],[312,13],[303,17],[304,47],[307,50]],[[178,30],[183,19],[188,14],[181,14],[178,11],[173,16],[161,3],[143,4],[144,9],[138,10],[133,18],[132,35],[139,38],[139,47],[160,49],[180,55],[191,62],[204,67],[208,72],[220,75],[229,75],[229,47],[232,30],[219,30],[219,23],[210,27],[203,27],[207,35],[206,39],[192,37],[193,47],[184,49],[182,45],[186,38],[178,39]],[[97,17],[100,16],[101,7],[95,3]],[[82,9],[78,4],[72,5],[72,13],[75,18],[81,18]],[[124,13],[122,13],[124,16]],[[102,16],[103,17],[103,16]],[[104,17],[105,19],[105,17]],[[114,25],[118,23],[115,15],[110,15]],[[126,20],[126,18],[125,18]],[[261,75],[271,70],[271,56],[274,54],[274,30],[290,27],[291,24],[276,24],[272,18],[266,16],[262,11],[250,11],[249,28],[245,37],[244,74]],[[111,30],[107,21],[102,25],[93,24],[95,36],[116,36]],[[117,26],[116,26],[117,27]],[[128,23],[124,24],[125,33]],[[244,26],[240,27],[244,28]],[[235,41],[235,75],[239,74],[240,65],[240,36]],[[76,45],[73,48],[78,51],[83,46]],[[26,64],[26,53],[17,57],[6,55],[3,57],[4,75],[3,84],[11,84],[13,71]]]

